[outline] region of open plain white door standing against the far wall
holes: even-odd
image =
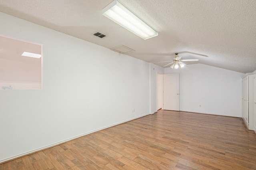
[[[164,110],[179,111],[179,74],[164,74],[163,89]]]

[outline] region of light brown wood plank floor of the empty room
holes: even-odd
[[[0,164],[18,169],[256,169],[256,135],[241,118],[159,111]]]

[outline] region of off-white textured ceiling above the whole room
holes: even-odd
[[[112,0],[1,0],[0,11],[109,49],[125,45],[135,50],[128,55],[160,66],[174,52],[188,51],[179,56],[241,73],[256,70],[255,0],[119,1],[158,36],[143,40],[103,16]]]

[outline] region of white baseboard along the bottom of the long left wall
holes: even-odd
[[[53,144],[49,144],[49,145],[44,146],[44,147],[41,147],[41,148],[37,148],[37,149],[34,149],[34,150],[30,150],[30,151],[24,152],[24,153],[22,153],[22,154],[17,154],[17,155],[15,155],[15,156],[11,156],[11,157],[9,157],[9,158],[5,158],[5,159],[0,160],[0,164],[1,164],[2,162],[7,162],[7,161],[9,161],[9,160],[13,160],[13,159],[19,158],[19,157],[21,157],[21,156],[25,156],[25,155],[28,155],[28,154],[32,154],[32,153],[34,153],[34,152],[38,152],[38,151],[40,151],[40,150],[44,150],[44,149],[47,149],[47,148],[51,148],[51,147],[53,147],[53,146],[57,146],[57,145],[59,145],[59,144],[68,142],[68,141],[70,141],[70,140],[74,140],[74,139],[76,139],[76,138],[79,138],[79,137],[81,137],[81,136],[85,136],[85,135],[90,134],[90,133],[93,133],[93,132],[97,132],[97,131],[99,131],[99,130],[103,130],[103,129],[106,129],[106,128],[114,127],[114,126],[116,126],[116,125],[120,125],[120,124],[122,124],[122,123],[126,123],[126,122],[132,121],[132,120],[134,120],[134,119],[138,119],[138,118],[141,118],[141,117],[144,117],[144,116],[147,116],[147,115],[152,115],[152,114],[154,114],[154,113],[148,113],[148,114],[145,114],[145,115],[142,115],[142,116],[139,116],[139,117],[135,117],[135,118],[132,118],[132,119],[129,119],[129,120],[126,120],[126,121],[122,121],[122,122],[119,122],[119,123],[115,123],[115,124],[113,124],[113,125],[109,125],[109,126],[106,126],[106,127],[103,127],[103,128],[99,128],[99,129],[96,129],[96,130],[92,130],[92,131],[90,131],[90,132],[86,132],[86,133],[84,133],[84,134],[80,134],[80,135],[78,135],[78,136],[74,136],[74,137],[72,137],[72,138],[68,138],[68,139],[66,139],[66,140],[62,140],[62,141],[60,141],[60,142],[56,142],[56,143],[53,143]]]

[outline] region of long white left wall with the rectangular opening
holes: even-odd
[[[0,91],[0,162],[150,113],[149,63],[0,13],[43,45],[43,89]],[[135,109],[135,112],[132,110]]]

